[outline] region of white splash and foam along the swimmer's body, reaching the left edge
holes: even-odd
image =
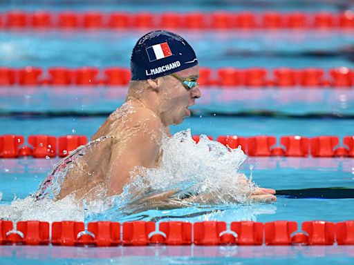
[[[90,147],[89,143],[81,148]],[[190,130],[185,130],[173,137],[164,137],[159,167],[135,168],[135,172],[140,170],[142,174],[132,177],[121,195],[104,200],[97,198],[88,203],[86,210],[71,196],[58,201],[53,201],[49,196],[37,201],[34,197],[15,199],[10,205],[0,206],[0,219],[83,221],[86,219],[84,215],[91,215],[93,219],[113,220],[148,208],[164,206],[176,208],[247,204],[255,185],[239,172],[246,158],[241,148],[227,148],[217,141],[209,140],[205,135],[201,135],[196,144]],[[52,185],[58,183],[56,177],[63,176],[54,176]],[[168,196],[151,207],[151,197],[161,194]],[[190,197],[185,198],[186,194]]]

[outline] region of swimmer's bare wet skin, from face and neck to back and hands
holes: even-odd
[[[198,79],[199,66],[176,72],[183,79]],[[122,193],[132,175],[143,174],[139,168],[157,168],[161,156],[162,135],[169,135],[169,126],[180,124],[190,116],[189,106],[201,97],[198,86],[187,90],[170,75],[141,81],[130,87],[125,103],[111,113],[93,135],[92,140],[111,135],[92,152],[75,161],[66,175],[58,199],[75,194],[77,199],[95,199]],[[84,172],[84,174],[83,174]],[[247,183],[245,178],[245,184]],[[159,195],[168,201],[174,192]],[[252,202],[274,202],[275,190],[256,188]]]

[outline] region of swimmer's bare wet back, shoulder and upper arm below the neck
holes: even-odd
[[[123,104],[93,135],[95,144],[73,161],[57,199],[70,194],[94,199],[121,193],[131,170],[158,166],[162,131],[151,110],[133,102]]]

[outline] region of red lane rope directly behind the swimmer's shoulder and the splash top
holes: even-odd
[[[207,136],[213,140],[212,136]],[[198,144],[199,135],[192,139]],[[343,146],[338,146],[339,137],[301,137],[299,135],[280,137],[280,146],[276,146],[277,138],[274,136],[239,137],[237,135],[220,135],[216,141],[228,148],[241,146],[243,152],[251,157],[354,157],[354,136],[343,138]],[[28,144],[21,135],[0,135],[0,157],[16,158],[33,156],[35,158],[48,158],[57,155],[65,157],[77,147],[87,144],[84,135],[66,135],[62,137],[49,135],[32,135],[28,137]]]

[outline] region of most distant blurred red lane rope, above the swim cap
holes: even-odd
[[[354,28],[352,10],[339,13],[329,12],[71,12],[49,11],[24,12],[15,10],[3,13],[6,28],[184,28],[205,29],[243,29],[243,30],[283,30],[319,29],[344,30]]]

